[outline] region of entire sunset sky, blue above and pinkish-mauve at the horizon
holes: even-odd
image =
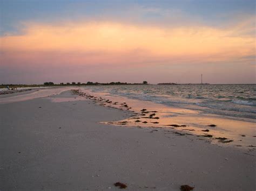
[[[0,84],[256,83],[255,1],[0,0]]]

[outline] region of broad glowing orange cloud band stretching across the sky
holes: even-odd
[[[132,24],[27,24],[23,34],[0,38],[2,63],[12,59],[58,63],[226,61],[255,54],[255,39],[236,28]],[[23,62],[24,63],[24,62]]]

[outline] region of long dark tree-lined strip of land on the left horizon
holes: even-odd
[[[99,83],[99,82],[87,82],[87,83],[81,83],[81,82],[61,82],[59,84],[55,84],[53,82],[44,82],[43,84],[2,84],[0,85],[0,88],[6,88],[9,87],[17,87],[17,88],[24,88],[24,87],[42,87],[42,86],[109,86],[109,85],[140,85],[140,84],[147,84],[147,81],[143,81],[142,83],[127,83],[127,82],[110,82],[110,83]]]

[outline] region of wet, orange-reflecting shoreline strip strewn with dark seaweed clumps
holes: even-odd
[[[106,124],[176,129],[183,135],[192,133],[221,146],[244,147],[250,151],[255,150],[256,147],[253,120],[242,121],[213,114],[206,115],[197,110],[166,107],[149,101],[94,93],[87,89],[79,89],[77,95],[98,105],[131,112],[131,117],[123,121],[103,122]],[[244,128],[241,129],[241,126]]]

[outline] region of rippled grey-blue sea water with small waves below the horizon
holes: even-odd
[[[89,86],[86,89],[206,114],[256,119],[256,84],[149,84]]]

